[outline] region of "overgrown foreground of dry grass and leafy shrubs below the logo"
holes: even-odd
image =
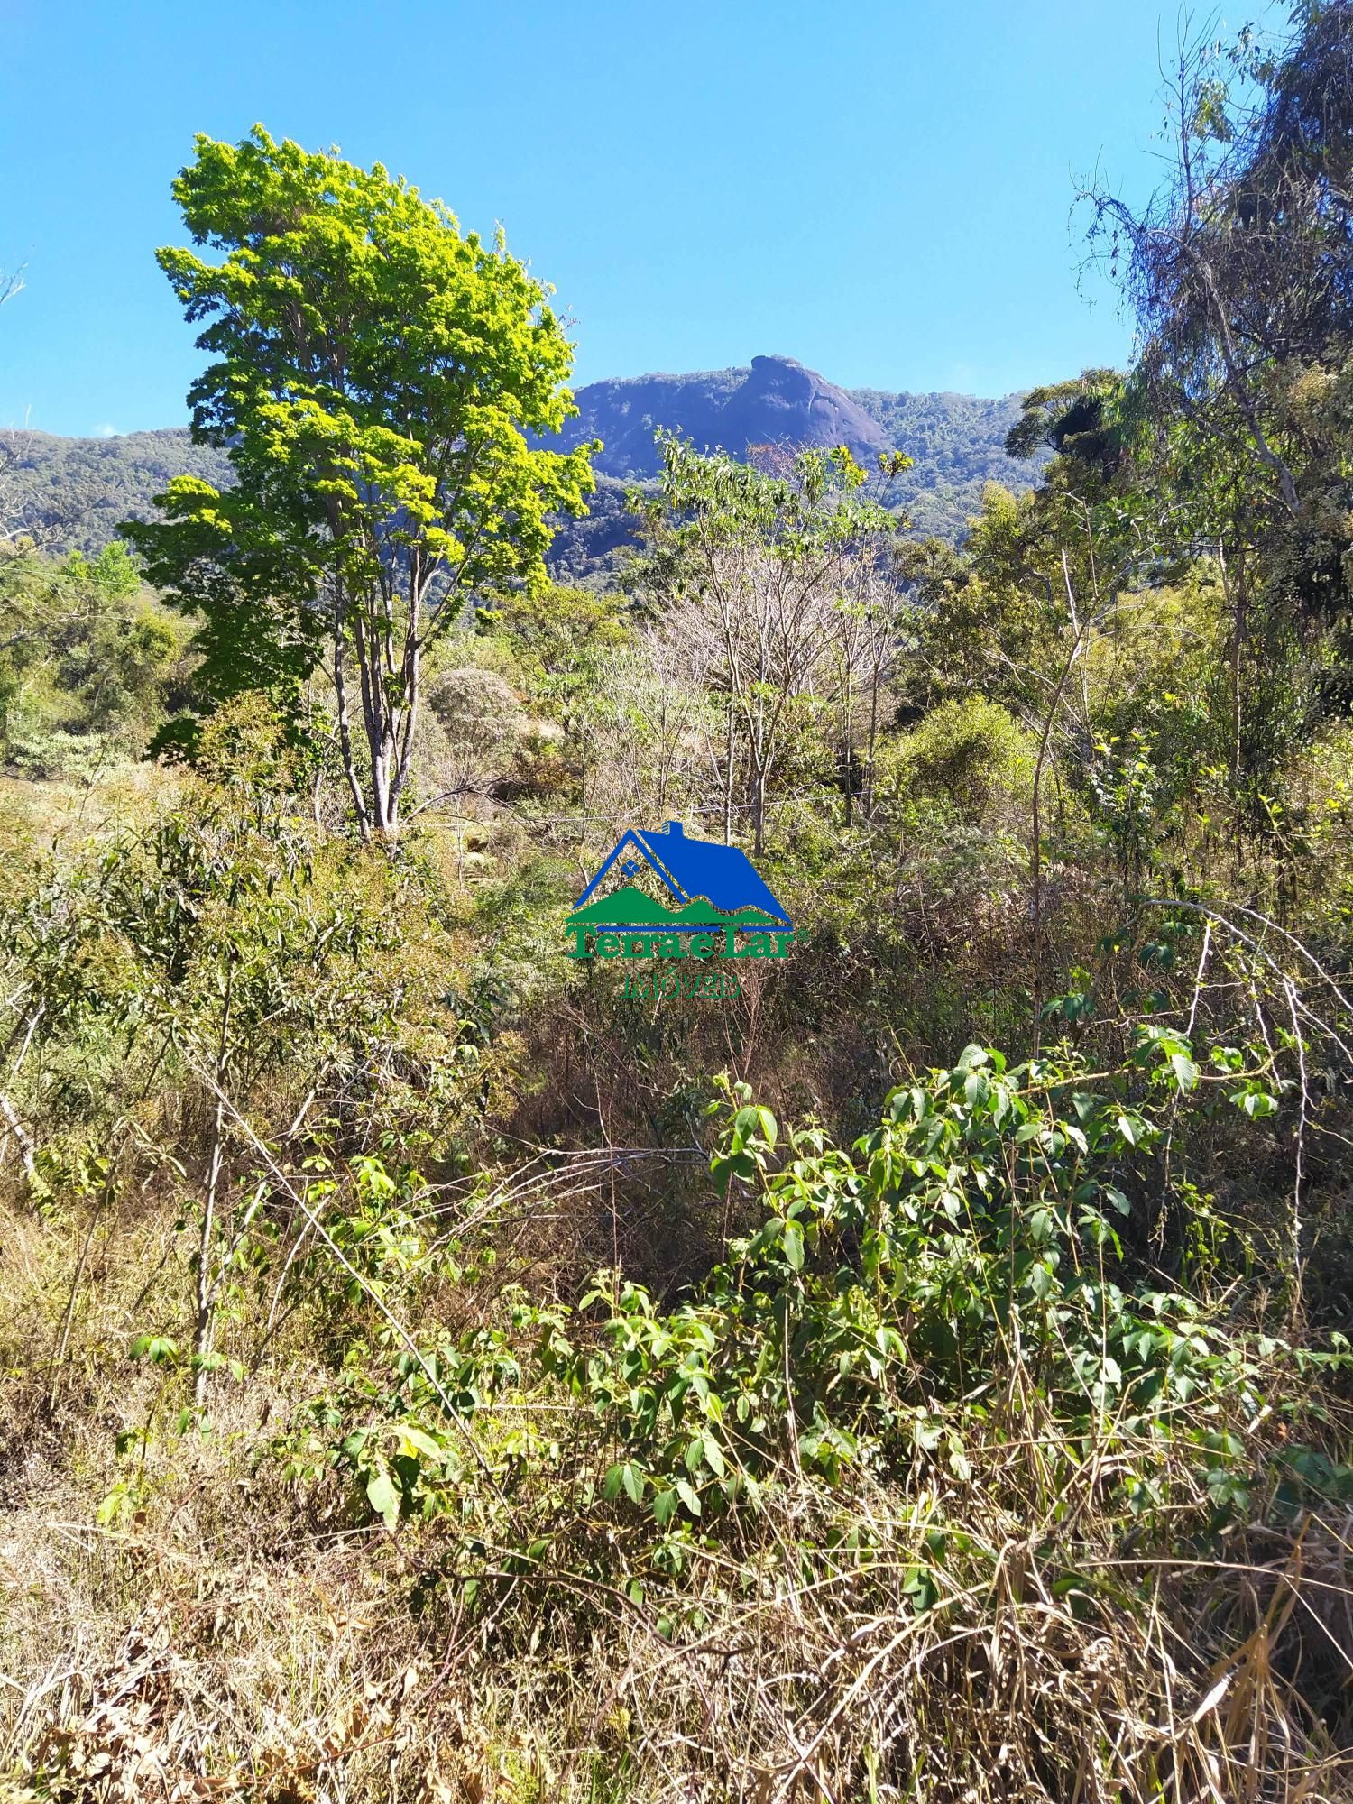
[[[904,1048],[947,1021],[880,976],[889,1041],[857,1021],[828,1088],[835,936],[676,1019],[514,963],[520,904],[453,859],[182,779],[79,851],[11,833],[11,1770],[1339,1795],[1313,954],[1178,909],[1104,954],[1093,1016],[933,1070]]]

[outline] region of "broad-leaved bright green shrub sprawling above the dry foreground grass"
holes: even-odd
[[[570,1557],[559,1510],[604,1503],[680,1539],[696,1521],[756,1508],[790,1472],[886,1483],[920,1459],[965,1479],[969,1443],[1021,1420],[1039,1423],[1050,1458],[1093,1445],[1111,1461],[1106,1506],[1155,1530],[1180,1485],[1210,1499],[1212,1530],[1250,1508],[1256,1483],[1288,1510],[1302,1474],[1353,1496],[1353,1468],[1322,1465],[1299,1440],[1274,1461],[1256,1441],[1265,1422],[1301,1427],[1293,1380],[1349,1364],[1340,1335],[1324,1353],[1295,1351],[1124,1270],[1115,1223],[1131,1205],[1118,1185],[1198,1084],[1174,1035],[1144,1035],[1108,1086],[1072,1054],[1007,1070],[971,1046],[951,1072],[893,1091],[850,1153],[819,1128],[781,1138],[745,1086],[725,1084],[711,1171],[722,1189],[756,1185],[763,1220],[689,1302],[662,1310],[644,1286],[601,1274],[575,1312],[516,1292],[511,1321],[465,1342],[415,1344],[386,1328],[377,1346],[350,1348],[339,1385],[271,1452],[296,1479],[346,1474],[359,1514],[388,1526],[447,1517],[471,1555],[520,1526],[529,1497],[545,1533],[520,1550],[530,1560],[556,1537]],[[1216,1106],[1252,1115],[1256,1095],[1272,1106],[1243,1070],[1212,1084]],[[437,1257],[455,1257],[464,1277],[464,1247],[429,1252],[390,1180],[361,1229],[372,1236],[386,1248],[399,1239],[406,1281]],[[530,1402],[511,1405],[525,1418],[505,1440],[487,1427],[505,1396],[547,1400],[559,1385],[577,1405],[566,1431],[541,1432]],[[487,1492],[474,1458],[489,1461]],[[514,1497],[507,1515],[494,1481]],[[547,1532],[545,1517],[557,1526]]]

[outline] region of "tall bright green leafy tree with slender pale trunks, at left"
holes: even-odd
[[[429,642],[480,586],[541,583],[550,516],[592,487],[590,446],[532,444],[572,411],[572,345],[502,235],[462,235],[381,164],[254,126],[198,137],[173,193],[224,253],[159,263],[211,357],[193,437],[236,482],[179,476],[126,536],[202,617],[207,705],[298,702],[327,664],[363,837],[395,835]]]

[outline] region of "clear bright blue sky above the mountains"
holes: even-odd
[[[579,384],[781,352],[994,395],[1120,363],[1068,206],[1095,164],[1151,182],[1174,32],[1155,0],[0,0],[0,426],[186,419],[152,253],[193,133],[254,119],[502,220]]]

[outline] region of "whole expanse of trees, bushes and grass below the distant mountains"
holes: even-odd
[[[216,462],[0,545],[5,1799],[1349,1797],[1353,4],[1169,132],[962,543],[667,431],[588,583],[532,271],[197,141]]]

